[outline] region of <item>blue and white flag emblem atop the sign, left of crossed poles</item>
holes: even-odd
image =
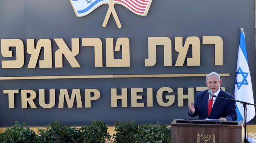
[[[70,0],[77,17],[88,15],[102,4],[107,4],[109,0]]]

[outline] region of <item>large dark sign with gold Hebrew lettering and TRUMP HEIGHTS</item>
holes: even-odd
[[[209,72],[234,94],[241,27],[255,87],[253,2],[4,0],[0,10],[0,126],[190,119]]]

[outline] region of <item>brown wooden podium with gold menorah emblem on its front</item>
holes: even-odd
[[[179,120],[171,122],[171,143],[243,143],[243,121]]]

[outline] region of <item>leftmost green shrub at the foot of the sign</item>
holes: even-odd
[[[23,126],[26,126],[26,128]],[[35,138],[35,132],[30,130],[26,123],[20,124],[17,121],[15,121],[14,126],[7,128],[5,132],[0,135],[1,143],[34,143]]]

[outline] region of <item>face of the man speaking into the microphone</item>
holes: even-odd
[[[222,80],[218,81],[217,76],[212,75],[209,76],[206,85],[208,86],[208,89],[212,90],[213,93],[216,93],[217,90],[219,90],[219,87],[221,86]]]

